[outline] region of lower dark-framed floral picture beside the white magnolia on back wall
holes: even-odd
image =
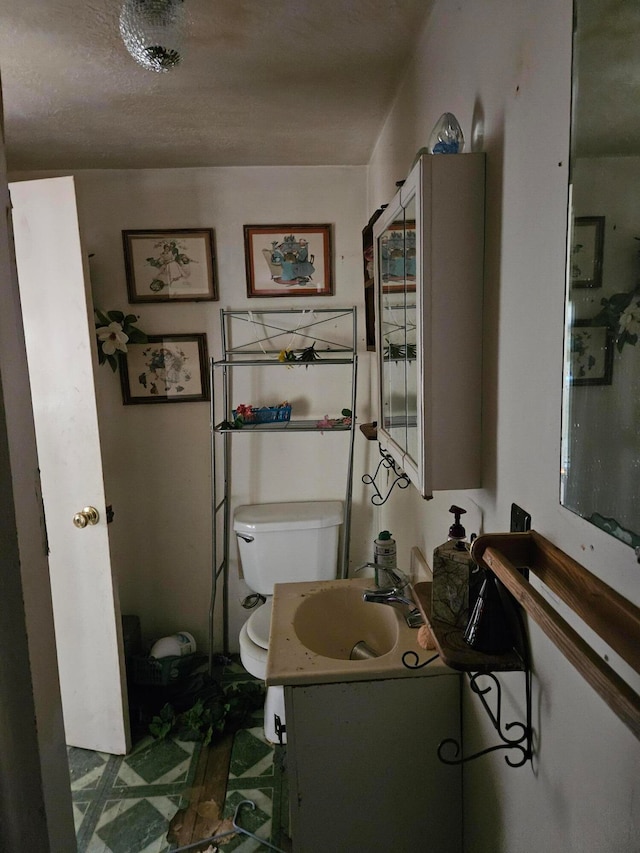
[[[207,336],[149,335],[121,360],[122,402],[197,403],[209,399]]]

